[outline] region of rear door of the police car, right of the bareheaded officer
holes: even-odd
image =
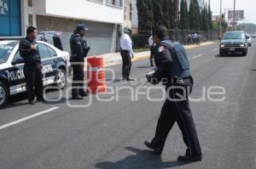
[[[53,84],[55,81],[56,74],[56,64],[58,60],[56,59],[57,54],[54,49],[49,48],[48,45],[38,42],[39,55],[42,61],[42,73],[44,85]]]

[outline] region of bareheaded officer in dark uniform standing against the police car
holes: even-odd
[[[26,38],[20,41],[20,56],[24,59],[24,75],[26,78],[26,92],[29,104],[34,104],[35,95],[37,100],[44,101],[41,58],[38,53],[38,43],[35,41],[37,29],[28,27]],[[34,93],[35,87],[35,93]]]

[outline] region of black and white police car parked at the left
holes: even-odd
[[[18,40],[0,41],[0,108],[9,96],[26,92],[26,80],[23,73],[23,59],[19,53]],[[61,89],[67,84],[67,71],[70,68],[69,54],[48,42],[37,41],[42,60],[43,82],[56,84]]]

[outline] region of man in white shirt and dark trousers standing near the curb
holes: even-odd
[[[121,56],[123,60],[122,75],[123,75],[123,80],[125,81],[134,81],[133,79],[130,78],[131,58],[134,58],[130,34],[131,34],[131,28],[125,27],[124,33],[120,37]]]

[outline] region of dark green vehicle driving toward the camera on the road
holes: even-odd
[[[244,31],[227,31],[219,44],[219,56],[226,54],[247,55],[248,42]]]

